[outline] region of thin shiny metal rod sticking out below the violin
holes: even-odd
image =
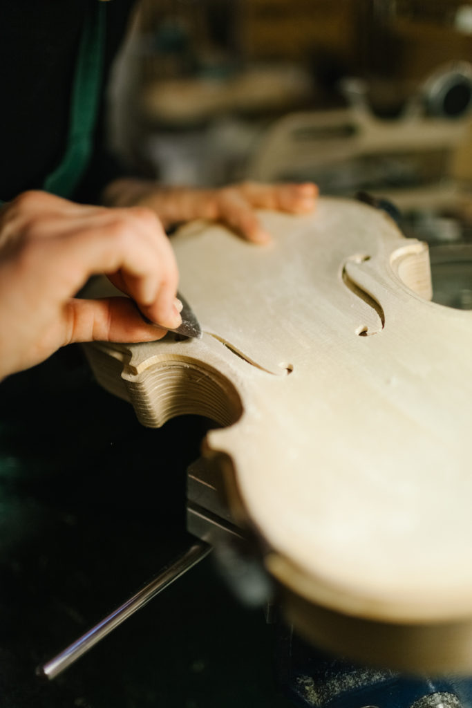
[[[108,617],[102,619],[101,622],[89,629],[86,634],[83,634],[79,639],[70,644],[67,649],[54,656],[50,661],[43,666],[39,666],[36,670],[37,675],[52,679],[64,669],[74,663],[88,649],[97,644],[100,639],[109,634],[115,627],[125,621],[127,617],[134,614],[141,607],[144,607],[149,600],[152,600],[156,595],[159,595],[162,590],[167,588],[173,581],[183,576],[198,562],[202,561],[209,554],[212,547],[204,542],[196,542],[185,551],[178,559],[168,568],[164,569],[159,576],[154,578],[150,583],[147,583],[142,590],[139,590],[132,598],[129,598],[123,605],[117,607],[115,612],[112,612]]]

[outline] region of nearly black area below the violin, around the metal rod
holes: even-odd
[[[208,421],[143,428],[72,346],[0,384],[0,707],[288,708],[274,636],[212,556],[50,683],[35,677],[188,546]]]

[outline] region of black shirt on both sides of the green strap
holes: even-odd
[[[0,200],[41,188],[62,159],[81,30],[98,0],[2,0],[0,9]],[[127,28],[134,0],[106,3],[103,89]],[[105,91],[102,91],[104,97]],[[107,154],[103,101],[90,167],[75,198],[96,201],[123,173]]]

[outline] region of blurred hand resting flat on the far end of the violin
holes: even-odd
[[[243,182],[219,189],[159,187],[156,183],[123,179],[105,190],[110,205],[140,204],[151,207],[168,227],[192,219],[222,222],[248,241],[267,244],[270,234],[263,229],[256,209],[308,214],[316,205],[318,188],[304,184],[262,184]]]

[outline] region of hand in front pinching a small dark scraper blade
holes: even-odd
[[[84,341],[152,341],[125,297],[75,299],[89,276],[107,273],[162,328],[179,326],[178,270],[154,212],[77,205],[27,192],[0,210],[0,379]]]

